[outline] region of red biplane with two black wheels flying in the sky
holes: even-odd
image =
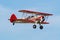
[[[35,11],[30,11],[30,10],[19,10],[18,12],[23,12],[23,13],[28,13],[32,14],[26,18],[19,18],[15,16],[15,14],[12,14],[10,17],[10,22],[13,23],[34,23],[33,28],[36,29],[36,24],[40,25],[40,29],[43,29],[42,24],[49,24],[46,22],[46,18],[48,16],[52,16],[53,14],[48,14],[48,13],[43,13],[43,12],[35,12]],[[34,15],[33,15],[34,14]]]

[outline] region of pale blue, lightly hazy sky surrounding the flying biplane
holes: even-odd
[[[60,0],[0,0],[0,40],[60,40]],[[53,14],[48,18],[50,24],[15,24],[8,20],[11,14],[22,16],[18,10],[33,10]]]

